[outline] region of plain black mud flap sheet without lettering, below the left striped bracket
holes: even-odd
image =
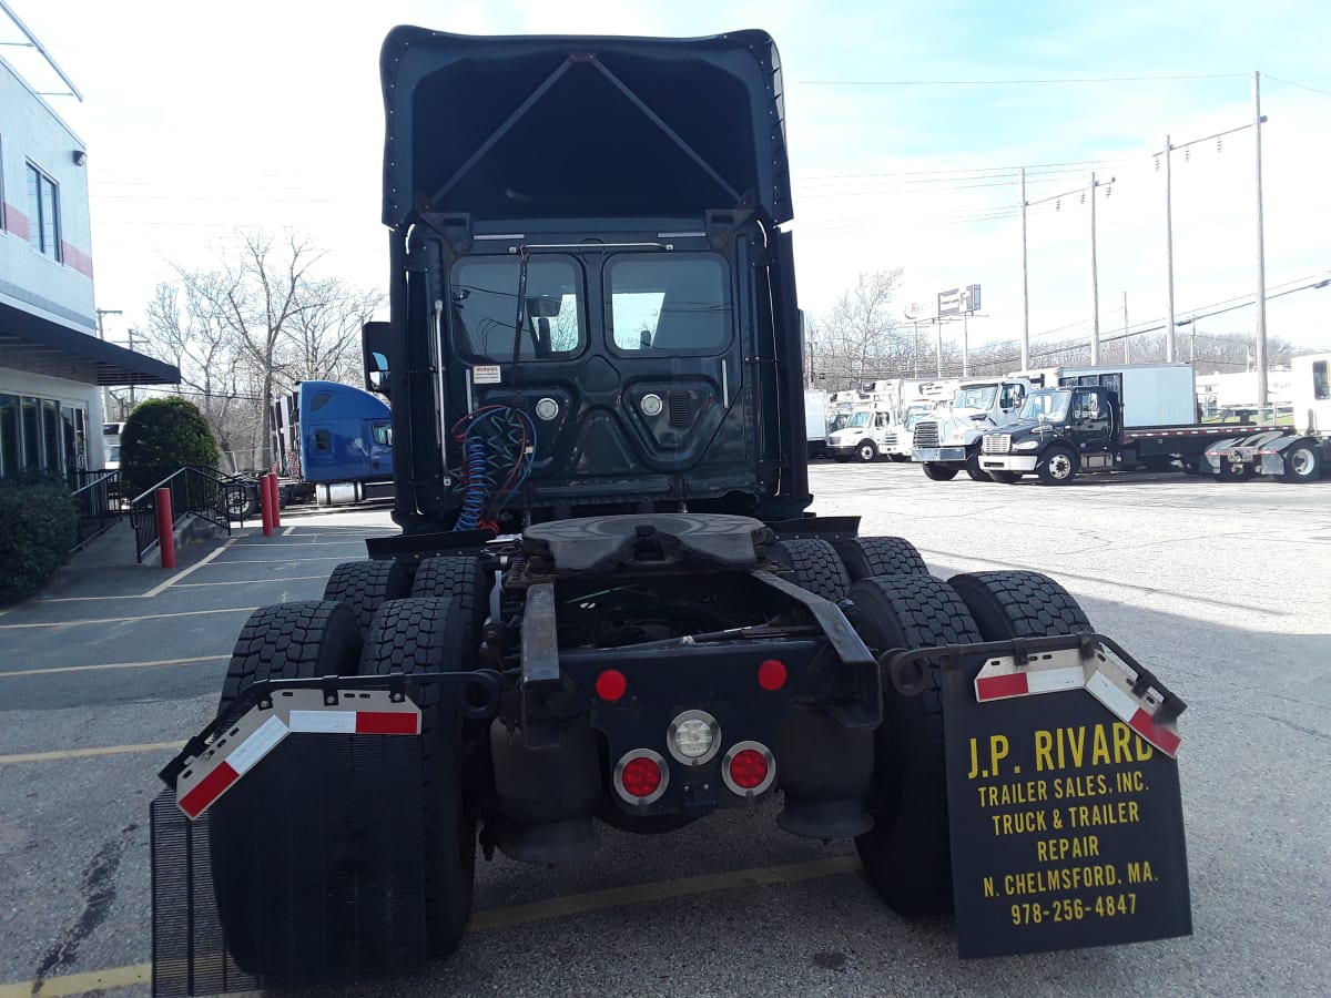
[[[423,962],[419,739],[291,735],[190,821],[152,805],[153,994]]]

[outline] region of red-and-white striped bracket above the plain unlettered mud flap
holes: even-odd
[[[176,804],[194,820],[206,812],[287,735],[419,735],[421,708],[393,700],[386,689],[338,691],[329,704],[321,689],[282,689],[220,732],[176,777]]]

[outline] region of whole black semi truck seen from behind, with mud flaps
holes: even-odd
[[[403,27],[381,69],[401,534],[256,611],[162,770],[157,993],[406,970],[478,852],[755,806],[962,955],[1189,933],[1182,701],[1051,579],[808,512],[772,40]],[[1094,830],[1037,836],[1075,786]]]

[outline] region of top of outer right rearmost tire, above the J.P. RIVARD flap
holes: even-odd
[[[1095,629],[1071,593],[1040,572],[972,572],[954,575],[948,584],[965,601],[986,641]]]

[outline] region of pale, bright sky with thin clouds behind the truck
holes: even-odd
[[[785,72],[801,306],[824,317],[858,271],[900,266],[902,306],[982,286],[972,343],[1021,334],[1020,166],[1028,201],[1042,202],[1028,209],[1036,346],[1089,333],[1079,192],[1091,170],[1115,178],[1097,194],[1110,337],[1122,331],[1125,293],[1134,329],[1166,314],[1165,173],[1153,153],[1166,134],[1178,146],[1229,129],[1242,130],[1173,156],[1175,310],[1183,319],[1244,305],[1198,327],[1252,331],[1256,157],[1254,129],[1242,126],[1259,69],[1267,294],[1331,274],[1324,0],[9,3],[84,94],[48,100],[88,144],[97,305],[125,313],[108,318],[112,338],[142,321],[170,262],[210,263],[236,226],[294,226],[327,250],[325,273],[385,286],[378,53],[395,24],[768,31]],[[0,29],[0,40],[13,36]],[[31,53],[0,53],[39,89],[59,85],[37,79]],[[1331,287],[1294,291],[1268,302],[1267,331],[1331,349],[1328,315]]]

